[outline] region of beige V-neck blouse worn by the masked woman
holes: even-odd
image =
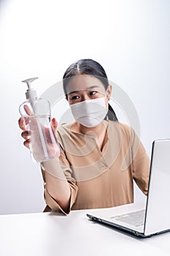
[[[150,159],[134,129],[115,121],[107,125],[102,151],[93,132],[82,135],[70,124],[58,128],[61,168],[71,189],[70,210],[107,208],[134,201],[133,179],[147,195]],[[42,167],[45,180],[45,169]],[[61,211],[61,206],[45,187],[45,211]]]

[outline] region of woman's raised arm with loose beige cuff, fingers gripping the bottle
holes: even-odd
[[[30,146],[30,132],[26,130],[24,119],[18,121],[20,129],[23,130],[21,136],[24,138],[24,146]],[[57,121],[52,120],[53,129],[57,129]],[[68,214],[75,198],[77,197],[77,186],[72,181],[72,176],[66,178],[64,170],[61,168],[58,158],[43,162],[41,164],[42,175],[45,181],[45,200],[53,211],[61,210]],[[69,182],[68,182],[69,179]]]

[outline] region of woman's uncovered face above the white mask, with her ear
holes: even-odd
[[[108,86],[107,91],[103,83],[93,75],[75,75],[66,85],[67,100],[69,105],[76,104],[88,99],[106,97],[106,106],[112,91]]]

